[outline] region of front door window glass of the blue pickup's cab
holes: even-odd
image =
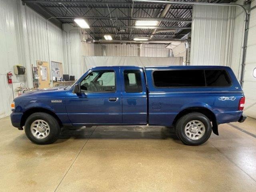
[[[84,92],[114,92],[116,80],[114,71],[93,71],[88,74],[80,84]]]

